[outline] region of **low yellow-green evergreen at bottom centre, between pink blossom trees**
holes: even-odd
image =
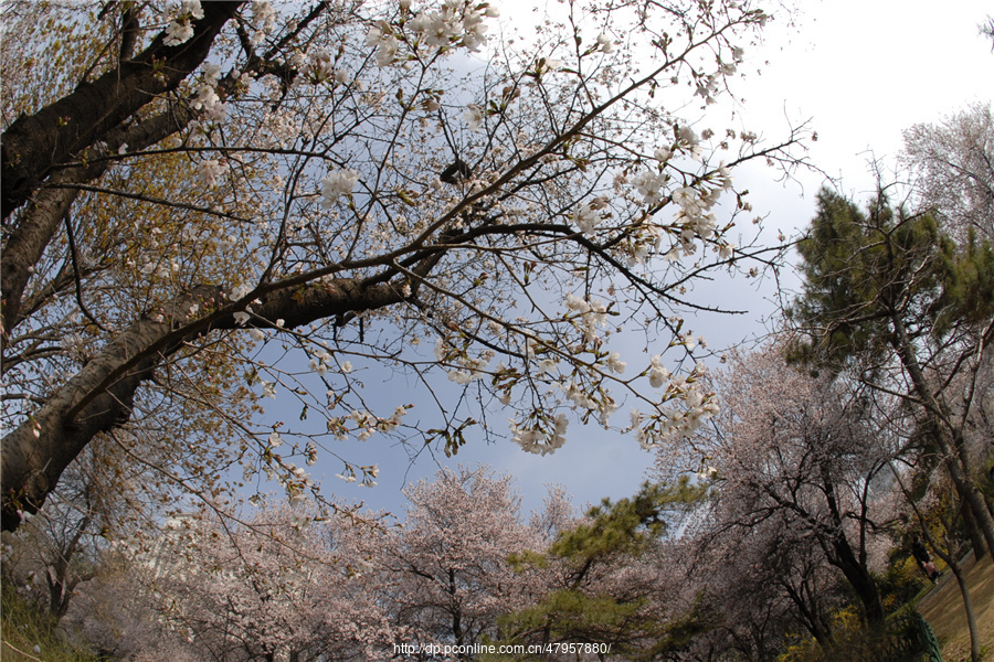
[[[675,485],[647,482],[630,499],[592,508],[544,555],[512,558],[521,568],[553,567],[560,580],[535,605],[500,619],[501,643],[552,644],[551,653],[562,642],[610,644],[613,655],[630,660],[686,647],[707,622],[699,605],[675,609],[675,596],[664,595],[674,586],[660,579],[660,538],[705,494],[686,477]]]

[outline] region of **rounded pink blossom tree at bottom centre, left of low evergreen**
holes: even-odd
[[[508,558],[548,543],[521,522],[511,478],[485,467],[444,469],[405,494],[403,525],[370,551],[384,578],[382,599],[405,641],[472,647],[495,637],[497,617],[541,590],[537,573],[516,572]]]

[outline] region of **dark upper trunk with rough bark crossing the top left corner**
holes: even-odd
[[[142,150],[179,131],[193,119],[193,111],[182,104],[170,104],[158,115],[142,120],[135,119],[134,114],[155,98],[151,93],[142,92],[148,88],[146,78],[150,72],[155,74],[155,67],[145,64],[142,68],[139,64],[151,61],[160,63],[161,68],[171,73],[167,79],[168,89],[175,88],[182,77],[189,76],[203,62],[216,32],[237,6],[212,4],[232,7],[228,8],[229,14],[219,13],[223,9],[221,7],[213,8],[210,14],[205,12],[203,21],[195,26],[198,32],[187,44],[168,49],[161,45],[162,38],[159,36],[138,58],[123,63],[95,83],[84,83],[68,96],[39,113],[18,119],[3,132],[0,145],[3,217],[7,218],[10,212],[25,201],[29,201],[29,205],[15,218],[3,245],[3,261],[0,264],[0,299],[3,301],[0,312],[0,348],[6,346],[11,331],[22,319],[22,299],[33,267],[76,200],[78,191],[72,184],[93,181],[103,175],[114,162],[108,157],[116,154],[120,147],[127,145],[129,151]],[[209,17],[212,17],[211,21],[208,21]],[[195,47],[190,46],[192,42],[197,42]],[[160,62],[162,57],[170,60]],[[127,71],[131,72],[129,77],[115,78],[115,75],[124,76]],[[110,84],[112,79],[114,85]],[[94,97],[91,87],[105,93],[106,88],[113,87],[118,97],[117,105],[115,106],[115,95],[107,98],[99,95]],[[60,126],[59,118],[63,116],[59,114],[84,100],[95,105],[87,113],[77,114],[75,125],[70,122]],[[112,109],[113,116],[117,118],[116,124],[108,120]],[[53,116],[56,118],[54,126]],[[59,149],[61,143],[67,142],[67,139],[60,136],[68,131],[71,125],[80,125],[85,117],[89,117],[91,125],[86,131],[77,126],[74,145],[78,147],[73,150]],[[52,143],[51,139],[55,142]],[[46,152],[45,148],[51,151]],[[29,159],[23,154],[36,154],[36,158]],[[66,166],[68,161],[75,161],[75,164]]]

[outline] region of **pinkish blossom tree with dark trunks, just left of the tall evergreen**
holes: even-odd
[[[789,366],[782,344],[732,355],[718,388],[723,407],[717,425],[702,428],[681,451],[685,459],[664,460],[686,468],[704,458],[704,474],[715,481],[715,503],[698,524],[701,544],[776,551],[769,569],[783,564],[783,589],[824,641],[819,609],[803,595],[813,543],[853,587],[866,620],[882,623],[868,549],[886,522],[876,519],[871,484],[896,449],[881,442],[887,437],[878,435],[867,403],[847,385]],[[752,534],[768,541],[750,542]]]

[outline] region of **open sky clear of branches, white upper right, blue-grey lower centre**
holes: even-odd
[[[903,129],[939,122],[971,103],[992,100],[994,54],[991,40],[977,29],[988,13],[994,13],[994,7],[980,0],[805,2],[794,14],[793,25],[772,22],[763,49],[747,52],[745,66],[740,68],[747,76],[734,83],[743,100],[737,111],[744,126],[769,137],[782,136],[786,121],[811,118],[819,138],[811,146],[812,162],[836,178],[843,192],[863,200],[874,188],[867,170],[870,151],[885,162],[892,161]],[[757,211],[769,213],[768,225],[787,234],[806,224],[813,196],[824,183],[815,173],[775,183],[764,169],[738,177],[747,180]],[[748,301],[750,314],[699,320],[695,332],[705,332],[712,345],[762,333],[758,320],[772,311],[764,302],[771,290],[755,292],[751,284],[740,281],[722,284],[715,293],[739,303]],[[626,410],[615,416],[626,416]],[[570,433],[565,447],[546,457],[528,455],[510,441],[479,442],[452,460],[441,453],[425,455],[409,467],[402,451],[383,448],[377,453],[378,487],[359,489],[325,477],[325,488],[401,514],[401,487],[434,474],[436,460],[450,466],[485,462],[517,477],[527,512],[541,505],[548,483],[564,484],[582,506],[602,496],[632,494],[645,479],[653,458],[631,437],[593,425],[584,430],[577,423]]]

